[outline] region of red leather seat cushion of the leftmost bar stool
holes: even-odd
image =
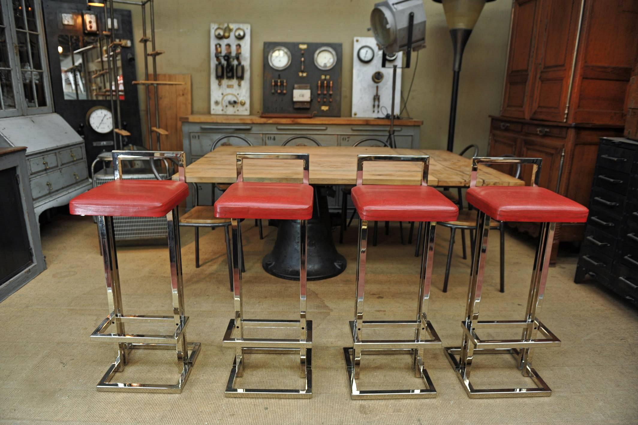
[[[114,180],[71,199],[75,215],[162,217],[188,196],[188,185],[172,180]]]

